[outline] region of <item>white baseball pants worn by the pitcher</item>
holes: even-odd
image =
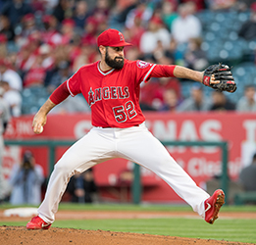
[[[38,208],[39,217],[52,223],[70,178],[76,172],[114,158],[127,159],[155,172],[204,218],[204,201],[210,195],[179,167],[145,123],[128,128],[93,127],[79,139],[55,165],[45,198]]]

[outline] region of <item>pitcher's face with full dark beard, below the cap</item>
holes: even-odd
[[[122,69],[125,63],[124,47],[106,47],[106,64],[114,69]]]

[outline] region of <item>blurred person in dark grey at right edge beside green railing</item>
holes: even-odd
[[[251,165],[240,172],[239,180],[245,191],[256,191],[256,153],[252,157]]]

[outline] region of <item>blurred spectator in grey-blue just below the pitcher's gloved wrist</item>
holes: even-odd
[[[191,95],[181,102],[177,111],[179,112],[207,112],[211,106],[211,101],[204,97],[203,87],[194,84],[191,88]]]

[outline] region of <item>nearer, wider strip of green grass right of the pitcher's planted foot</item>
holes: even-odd
[[[126,231],[180,237],[195,237],[240,242],[256,242],[255,221],[216,221],[214,225],[196,219],[90,220],[73,222],[75,228]],[[71,221],[56,221],[56,226],[71,227]]]

